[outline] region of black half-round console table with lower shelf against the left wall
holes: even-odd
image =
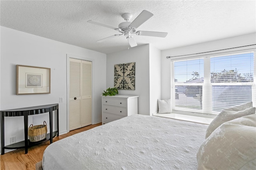
[[[57,111],[57,131],[52,132],[52,111]],[[40,140],[38,142],[30,142],[28,139],[28,116],[29,115],[37,115],[41,113],[47,113],[49,112],[50,117],[50,134],[46,135],[46,138],[44,140]],[[4,146],[4,117],[16,117],[16,116],[23,116],[24,117],[24,134],[25,134],[25,140],[10,144],[8,146]],[[10,109],[1,111],[1,154],[4,154],[4,149],[20,149],[25,148],[25,154],[28,153],[28,147],[34,146],[36,144],[39,144],[41,142],[46,142],[50,140],[50,143],[52,143],[52,138],[55,136],[59,136],[59,105],[58,104],[52,104],[52,105],[43,105],[43,106],[36,106],[36,107],[26,107],[26,108],[20,108],[20,109]]]

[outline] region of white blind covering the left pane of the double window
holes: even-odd
[[[202,110],[204,59],[174,62],[175,107]]]

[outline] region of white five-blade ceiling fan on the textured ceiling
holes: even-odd
[[[153,37],[166,37],[167,36],[167,32],[153,32],[153,31],[136,31],[136,29],[141,26],[144,22],[146,22],[148,19],[150,19],[154,14],[152,14],[151,12],[148,12],[147,10],[143,10],[138,16],[137,18],[135,18],[133,20],[133,22],[129,22],[129,20],[132,18],[132,14],[130,13],[124,13],[122,15],[122,18],[124,18],[124,20],[126,22],[122,22],[118,25],[118,28],[113,27],[113,26],[109,26],[106,24],[102,24],[99,22],[95,22],[95,21],[87,21],[88,23],[91,24],[96,24],[99,26],[104,26],[107,28],[111,28],[114,29],[116,31],[118,31],[120,34],[115,34],[113,36],[107,37],[107,38],[103,38],[102,40],[98,40],[97,42],[104,42],[108,39],[111,38],[115,38],[118,36],[126,36],[126,39],[128,40],[128,43],[131,47],[135,47],[137,46],[136,41],[134,40],[132,34],[136,34],[138,36],[153,36]]]

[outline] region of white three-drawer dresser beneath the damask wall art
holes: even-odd
[[[138,114],[138,96],[102,96],[102,125]]]

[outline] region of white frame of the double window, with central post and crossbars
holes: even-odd
[[[212,83],[211,82],[211,69],[210,69],[210,60],[212,57],[221,57],[224,55],[235,55],[235,54],[242,54],[242,53],[254,53],[254,81],[253,82],[233,82],[233,83]],[[174,62],[176,61],[185,61],[185,60],[194,60],[194,59],[204,59],[204,82],[202,83],[184,83],[184,82],[174,82]],[[212,87],[216,85],[250,85],[252,86],[252,102],[254,106],[256,104],[256,51],[255,49],[250,50],[243,50],[239,52],[225,52],[219,55],[210,54],[208,55],[201,55],[201,56],[193,56],[193,57],[183,57],[183,58],[175,58],[171,59],[171,103],[172,103],[172,110],[173,113],[180,113],[186,115],[196,115],[196,116],[203,116],[203,117],[215,117],[218,115],[219,111],[212,111]],[[189,109],[189,108],[182,108],[182,107],[175,107],[175,86],[184,86],[184,85],[202,85],[202,110],[198,109]],[[208,92],[208,93],[207,93]],[[209,93],[210,92],[210,93]]]

